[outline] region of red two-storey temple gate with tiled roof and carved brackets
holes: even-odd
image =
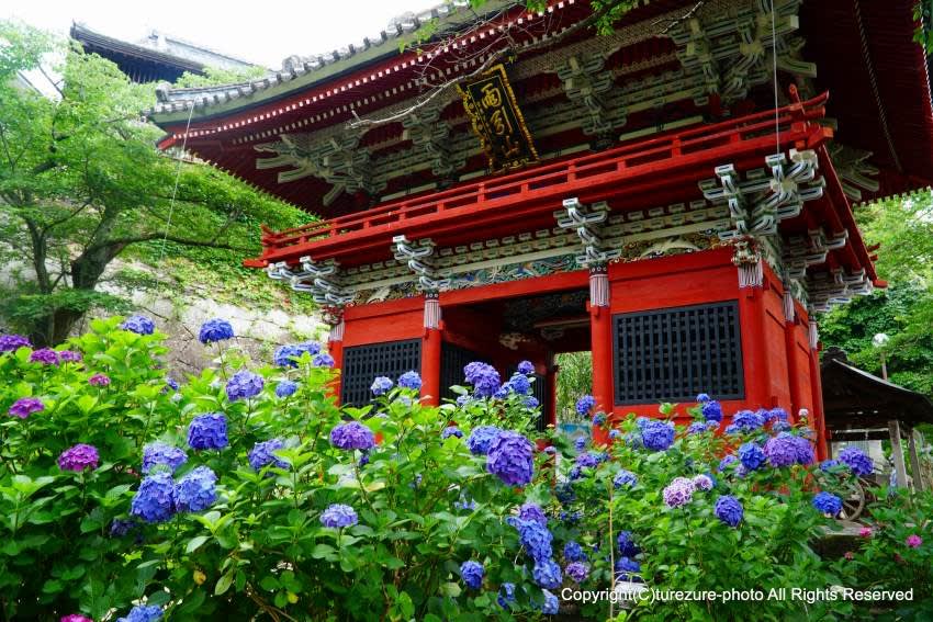
[[[816,314],[884,286],[852,205],[933,181],[913,0],[651,0],[608,34],[464,4],[148,113],[321,216],[247,264],[326,310],[341,398],[529,359],[553,420],[554,354],[591,351],[610,414],[807,409],[824,455]]]

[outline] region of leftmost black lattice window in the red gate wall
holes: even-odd
[[[408,371],[421,371],[421,340],[387,341],[344,350],[340,399],[364,406],[372,400],[372,381],[386,376],[393,382]]]

